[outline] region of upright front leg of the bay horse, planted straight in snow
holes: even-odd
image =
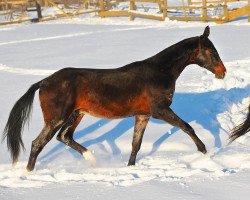
[[[128,165],[135,165],[136,155],[141,148],[141,142],[142,142],[144,131],[148,124],[148,120],[149,120],[148,116],[138,115],[135,117],[132,152],[130,155]]]

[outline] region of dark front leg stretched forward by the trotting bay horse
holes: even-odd
[[[154,118],[161,119],[171,124],[172,126],[178,127],[182,129],[185,133],[187,133],[194,143],[197,146],[198,151],[202,153],[207,153],[206,147],[203,142],[197,137],[194,132],[194,129],[185,121],[183,121],[180,117],[178,117],[167,105],[157,105],[153,109]]]

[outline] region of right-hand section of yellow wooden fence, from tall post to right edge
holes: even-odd
[[[100,0],[103,1],[103,0]],[[159,5],[159,14],[148,14],[146,12],[136,11],[135,3],[155,3]],[[135,17],[143,17],[156,20],[181,20],[181,21],[213,21],[216,23],[225,23],[242,16],[248,16],[250,22],[250,0],[245,1],[246,5],[234,10],[229,9],[229,3],[239,2],[235,0],[182,0],[182,5],[168,5],[168,0],[129,0],[128,10],[105,10],[100,8],[101,17],[111,16],[129,16],[130,20]],[[248,4],[247,4],[248,3]],[[142,4],[143,5],[143,4]],[[211,11],[220,10],[219,14],[211,15]],[[210,12],[209,12],[210,11]]]

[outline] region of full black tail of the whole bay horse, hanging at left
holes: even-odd
[[[7,146],[11,153],[13,164],[18,160],[20,146],[24,149],[22,132],[25,123],[30,119],[35,92],[40,88],[40,83],[41,81],[33,84],[16,102],[10,112],[9,119],[4,128],[2,141],[7,138]]]

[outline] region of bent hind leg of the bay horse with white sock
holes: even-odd
[[[89,160],[91,162],[91,166],[94,167],[96,165],[96,161],[92,153],[73,139],[74,131],[83,118],[83,115],[84,114],[79,110],[74,111],[70,115],[66,123],[64,123],[64,125],[62,126],[60,132],[57,135],[57,140],[82,154],[86,160]]]

